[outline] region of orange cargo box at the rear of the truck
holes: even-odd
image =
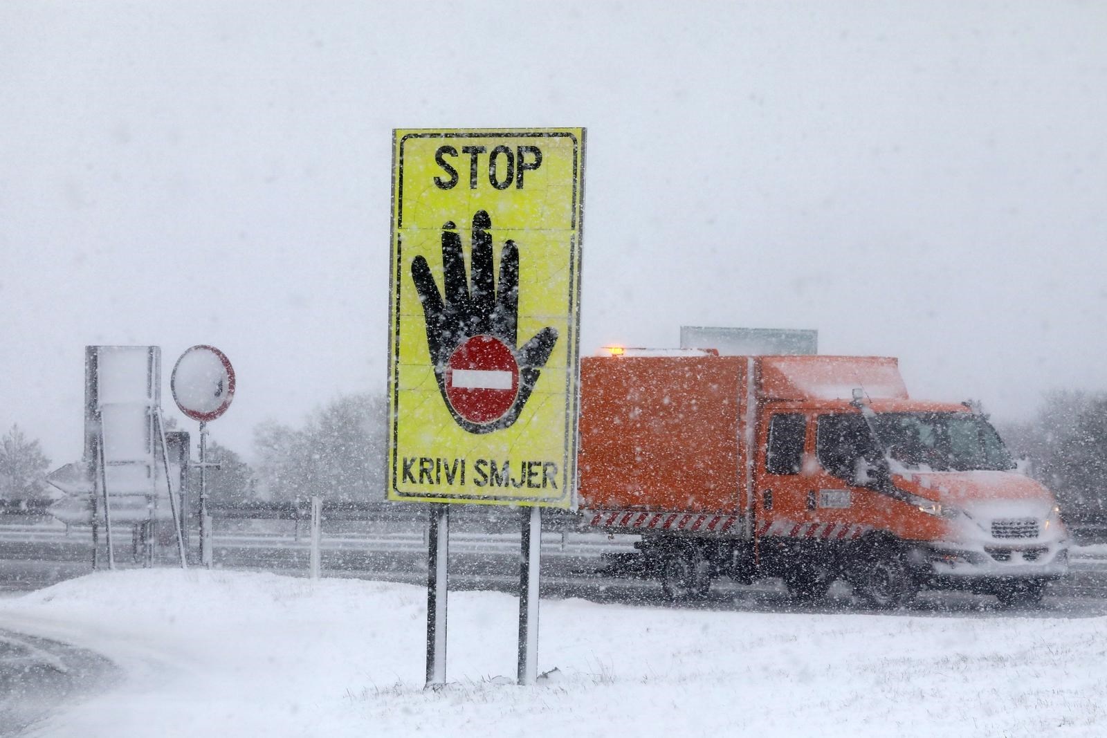
[[[742,356],[580,363],[580,507],[734,514],[745,508]]]

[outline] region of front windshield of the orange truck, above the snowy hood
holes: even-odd
[[[877,433],[889,456],[933,471],[1013,469],[995,429],[970,413],[880,413]]]

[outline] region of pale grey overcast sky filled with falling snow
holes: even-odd
[[[581,351],[819,330],[912,395],[1107,388],[1107,3],[0,4],[0,432],[223,349],[249,455],[386,377],[394,127],[587,126]],[[193,427],[190,422],[183,423]]]

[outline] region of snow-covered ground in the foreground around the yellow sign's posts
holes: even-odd
[[[44,736],[1103,736],[1104,619],[772,614],[542,601],[537,687],[515,597],[449,599],[423,689],[425,589],[121,571],[0,601],[0,628],[127,675]]]

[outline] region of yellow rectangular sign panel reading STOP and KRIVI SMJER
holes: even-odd
[[[395,131],[389,499],[569,507],[583,128]]]

